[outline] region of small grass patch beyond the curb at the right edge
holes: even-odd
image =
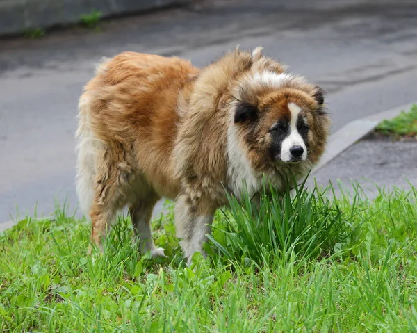
[[[382,121],[375,131],[393,138],[417,138],[417,105],[412,106],[410,111],[402,111],[391,120]]]

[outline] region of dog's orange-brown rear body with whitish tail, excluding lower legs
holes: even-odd
[[[134,52],[99,64],[79,100],[76,132],[76,190],[86,216],[97,193],[117,197],[117,183],[136,170],[158,173],[150,177],[161,179],[156,188],[170,185],[161,162],[177,135],[179,92],[198,72],[186,60]]]

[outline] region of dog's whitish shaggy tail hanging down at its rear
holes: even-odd
[[[79,124],[76,131],[76,193],[81,210],[89,217],[94,199],[95,174],[101,143],[95,138],[90,124],[90,104],[88,93],[79,100]]]

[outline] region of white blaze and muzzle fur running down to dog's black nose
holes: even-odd
[[[293,159],[290,149],[292,147],[300,146],[303,149],[301,156],[301,161],[305,161],[307,158],[307,148],[306,144],[300,133],[297,130],[297,119],[301,111],[300,106],[297,106],[295,103],[288,103],[288,108],[291,112],[291,122],[290,122],[290,133],[284,139],[281,145],[281,160],[283,162],[290,162]]]

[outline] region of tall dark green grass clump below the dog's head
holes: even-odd
[[[291,195],[267,185],[263,193],[268,195],[261,195],[259,209],[247,195],[242,203],[229,197],[230,209],[218,227],[220,241],[209,236],[227,258],[247,257],[262,266],[288,254],[304,259],[327,255],[350,236],[350,222],[360,211],[357,197],[345,210],[334,195],[331,201],[332,186],[307,191],[303,183]]]

